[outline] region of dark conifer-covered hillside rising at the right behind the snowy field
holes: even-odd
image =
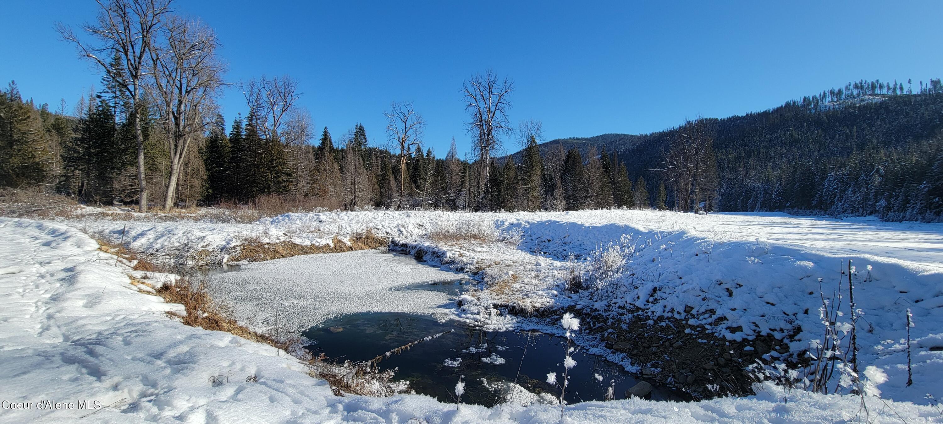
[[[717,181],[703,188],[708,193],[691,194],[698,202],[677,207],[940,220],[943,88],[939,79],[920,83],[916,93],[902,86],[861,81],[762,112],[698,120]],[[604,146],[630,178],[649,182],[651,201],[665,182],[666,206],[675,207],[685,195],[670,184],[679,179],[668,169],[677,163],[666,159],[672,144],[685,144],[674,140],[695,139],[686,130],[691,123],[646,135],[555,139],[540,149],[553,155],[562,145],[585,154]]]

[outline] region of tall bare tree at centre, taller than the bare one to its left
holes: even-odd
[[[484,75],[472,75],[462,85],[461,91],[465,110],[471,118],[466,125],[472,134],[472,148],[478,156],[477,197],[480,206],[490,174],[491,152],[501,147],[498,135],[513,131],[507,119],[507,110],[511,107],[510,95],[514,91],[514,82],[507,77],[499,82],[498,76],[488,70]]]

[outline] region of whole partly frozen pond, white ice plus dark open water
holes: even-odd
[[[466,402],[500,401],[486,381],[558,393],[546,383],[546,375],[562,373],[566,339],[485,332],[449,320],[455,298],[478,284],[463,274],[422,265],[412,256],[378,251],[294,256],[212,271],[207,279],[213,296],[230,303],[240,320],[256,328],[301,331],[314,342],[307,349],[334,360],[369,360],[451,330],[379,364],[381,369],[398,367],[396,380],[438,400],[454,401],[448,390],[459,376],[465,376]],[[576,351],[573,358],[578,365],[571,370],[569,402],[604,400],[610,385],[615,399],[623,399],[625,390],[637,383],[601,356]],[[652,397],[683,399],[657,387]]]

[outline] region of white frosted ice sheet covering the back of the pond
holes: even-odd
[[[464,278],[409,257],[356,251],[243,265],[235,272],[212,275],[209,290],[213,299],[231,304],[240,322],[253,328],[273,325],[277,319],[284,328],[298,331],[357,312],[442,315],[440,306],[452,304],[445,293],[404,287]]]

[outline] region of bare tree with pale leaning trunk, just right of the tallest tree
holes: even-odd
[[[155,102],[167,132],[171,173],[164,210],[174,207],[181,164],[190,142],[206,129],[208,109],[223,86],[225,66],[216,57],[216,34],[205,24],[170,15],[151,49]]]

